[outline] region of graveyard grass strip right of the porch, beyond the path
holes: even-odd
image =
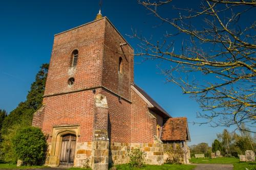
[[[189,160],[190,163],[220,163],[220,164],[234,164],[234,163],[239,163],[238,158],[216,158],[216,159],[211,159],[211,158],[191,158]]]

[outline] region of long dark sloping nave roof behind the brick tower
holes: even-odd
[[[156,111],[157,113],[164,114],[165,117],[172,117],[168,114],[167,111],[165,111],[156,101],[154,101],[151,96],[149,96],[144,90],[142,90],[139,86],[134,85],[135,89],[138,90],[139,93],[141,93],[144,98],[153,106],[151,109]]]

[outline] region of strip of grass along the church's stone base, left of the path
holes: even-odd
[[[191,170],[196,166],[183,164],[163,164],[163,165],[145,165],[141,168],[131,168],[128,164],[116,165],[117,170]]]

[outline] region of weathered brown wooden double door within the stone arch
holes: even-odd
[[[60,164],[73,165],[76,148],[76,136],[67,134],[62,137]]]

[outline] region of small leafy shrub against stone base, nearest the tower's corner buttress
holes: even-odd
[[[129,165],[131,167],[142,167],[145,165],[145,153],[143,153],[139,148],[128,150],[126,154],[130,160]]]

